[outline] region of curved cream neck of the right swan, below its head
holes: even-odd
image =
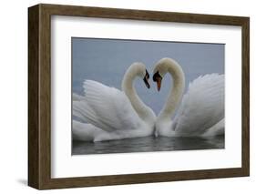
[[[185,77],[181,67],[173,61],[169,61],[165,64],[167,67],[167,71],[172,77],[173,86],[172,89],[169,90],[169,95],[167,101],[159,113],[159,117],[161,119],[170,119],[173,113],[178,107],[182,94],[184,92],[185,87]],[[171,86],[171,83],[170,83]]]

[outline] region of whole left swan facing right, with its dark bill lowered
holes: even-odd
[[[150,87],[146,66],[138,62],[128,67],[122,91],[86,80],[85,97],[73,95],[73,115],[87,124],[75,121],[73,137],[103,141],[153,135],[156,115],[138,97],[133,86],[136,77],[141,77],[146,87]]]

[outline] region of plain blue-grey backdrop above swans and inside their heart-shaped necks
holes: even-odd
[[[137,41],[72,37],[73,92],[84,95],[83,81],[92,79],[107,86],[121,88],[128,66],[142,62],[150,74],[150,89],[142,79],[135,81],[139,97],[156,114],[163,106],[169,92],[171,78],[164,77],[160,92],[152,81],[154,65],[162,57],[175,59],[186,76],[186,89],[200,75],[224,74],[223,44]]]

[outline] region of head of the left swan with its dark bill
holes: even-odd
[[[133,63],[129,67],[128,72],[130,72],[132,75],[141,77],[143,79],[146,87],[150,88],[150,85],[148,83],[148,79],[149,79],[148,70],[143,63],[139,63],[139,62]]]

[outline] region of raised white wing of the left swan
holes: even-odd
[[[115,87],[97,81],[84,82],[85,97],[73,102],[73,114],[106,131],[138,128],[141,119],[128,97]]]

